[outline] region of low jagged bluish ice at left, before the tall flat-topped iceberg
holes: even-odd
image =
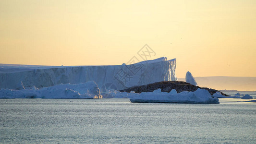
[[[94,81],[80,84],[57,84],[38,89],[0,89],[0,98],[102,98]]]

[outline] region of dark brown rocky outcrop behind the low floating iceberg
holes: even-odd
[[[211,95],[215,94],[216,92],[220,92],[215,89],[207,88],[207,87],[199,87],[195,86],[193,84],[189,84],[182,81],[163,81],[163,82],[157,82],[153,84],[146,84],[146,85],[139,85],[139,86],[133,86],[129,87],[127,89],[119,90],[120,92],[127,92],[130,93],[131,91],[134,91],[135,93],[142,93],[142,92],[153,92],[154,90],[160,88],[162,92],[170,92],[172,89],[175,89],[177,93],[188,91],[188,92],[194,92],[198,88],[206,89]],[[223,96],[229,96],[222,92],[220,92]]]

